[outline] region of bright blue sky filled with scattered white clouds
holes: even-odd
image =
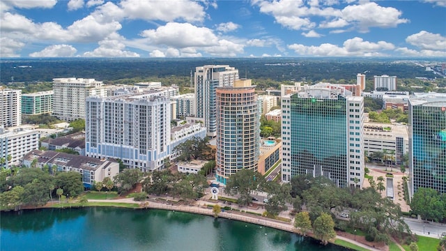
[[[1,0],[0,56],[446,56],[446,0]]]

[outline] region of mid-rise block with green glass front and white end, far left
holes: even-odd
[[[54,91],[22,94],[22,115],[51,114]]]

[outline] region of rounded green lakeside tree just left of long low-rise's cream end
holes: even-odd
[[[76,197],[84,192],[82,175],[78,172],[60,172],[54,177],[54,184],[57,188],[62,188],[70,197]]]

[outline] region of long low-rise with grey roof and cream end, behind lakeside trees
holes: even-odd
[[[33,161],[36,160],[35,163]],[[86,188],[95,182],[102,182],[108,177],[113,180],[119,173],[119,163],[116,160],[91,158],[56,151],[33,150],[24,155],[22,164],[26,167],[47,167],[50,172],[79,172]]]

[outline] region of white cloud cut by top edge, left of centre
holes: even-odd
[[[202,22],[206,13],[203,6],[195,1],[141,1],[123,0],[120,6],[130,19],[161,20],[173,22]]]

